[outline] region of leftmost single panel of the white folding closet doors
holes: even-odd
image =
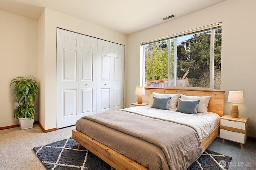
[[[78,119],[78,36],[57,31],[57,128],[75,125]]]

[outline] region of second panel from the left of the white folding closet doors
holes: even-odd
[[[79,50],[78,113],[82,117],[97,113],[97,39],[80,35]]]

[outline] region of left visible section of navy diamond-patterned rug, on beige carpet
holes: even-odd
[[[36,156],[47,170],[111,170],[111,166],[72,139],[63,139],[34,147]]]

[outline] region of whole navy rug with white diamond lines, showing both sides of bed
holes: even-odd
[[[41,147],[34,147],[36,156],[47,170],[111,170],[112,167],[92,152],[81,146],[74,139],[63,139]],[[223,170],[228,169],[232,157],[206,150],[188,170]]]

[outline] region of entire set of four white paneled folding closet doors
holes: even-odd
[[[57,29],[57,128],[123,108],[124,45]]]

